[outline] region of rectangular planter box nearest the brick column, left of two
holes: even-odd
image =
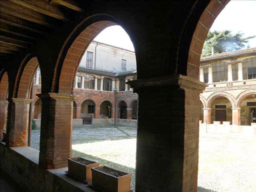
[[[68,158],[68,174],[81,179],[83,181],[90,181],[92,179],[92,167],[97,167],[100,163],[86,160],[85,158]]]

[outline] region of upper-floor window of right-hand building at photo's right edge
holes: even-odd
[[[243,60],[243,79],[256,78],[256,57]]]

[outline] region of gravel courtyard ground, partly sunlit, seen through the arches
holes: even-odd
[[[135,186],[136,131],[128,126],[85,125],[73,128],[72,156],[133,173]],[[39,150],[40,129],[32,130]],[[256,139],[206,135],[200,137],[198,192],[256,191]]]

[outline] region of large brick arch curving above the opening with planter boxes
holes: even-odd
[[[86,49],[103,29],[118,25],[109,15],[96,15],[86,18],[69,35],[60,54],[53,77],[52,91],[70,95],[73,93],[76,71]]]

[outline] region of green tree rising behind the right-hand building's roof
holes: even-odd
[[[212,47],[214,48],[214,53],[224,53],[240,50],[246,46],[250,39],[253,38],[255,38],[255,36],[243,37],[241,32],[232,34],[231,30],[213,32],[209,31],[206,37],[206,41],[203,44],[202,56],[211,55]],[[247,48],[249,48],[248,45]]]

